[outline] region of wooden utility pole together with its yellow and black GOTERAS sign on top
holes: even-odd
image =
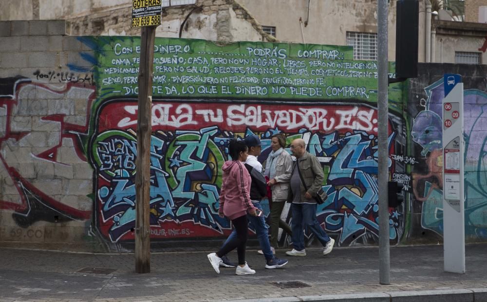
[[[196,0],[176,1],[176,5]],[[171,1],[132,1],[131,28],[142,27],[140,38],[137,159],[135,161],[135,271],[150,273],[150,137],[152,135],[152,70],[155,29],[161,25],[162,7]]]

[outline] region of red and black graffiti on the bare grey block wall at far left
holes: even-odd
[[[74,239],[70,230],[84,233],[92,216],[93,170],[82,141],[95,89],[36,82],[32,76],[2,79],[1,237]],[[15,224],[4,227],[7,214]],[[69,229],[58,227],[69,222]]]

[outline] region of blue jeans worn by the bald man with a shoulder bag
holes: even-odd
[[[316,219],[316,207],[317,204],[291,204],[291,213],[293,215],[291,220],[292,238],[294,249],[296,250],[304,249],[304,227],[309,228],[321,245],[325,246],[330,241],[330,237],[319,226]]]

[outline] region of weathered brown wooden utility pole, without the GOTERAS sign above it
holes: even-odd
[[[135,161],[135,271],[137,273],[150,273],[150,137],[156,27],[142,27],[140,39],[137,159]]]

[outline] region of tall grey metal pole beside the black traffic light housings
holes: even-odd
[[[377,1],[377,46],[378,46],[378,187],[379,187],[379,283],[390,284],[390,259],[389,259],[389,205],[387,194],[387,182],[389,180],[389,144],[388,126],[389,109],[389,62],[388,62],[388,3],[387,0]]]

